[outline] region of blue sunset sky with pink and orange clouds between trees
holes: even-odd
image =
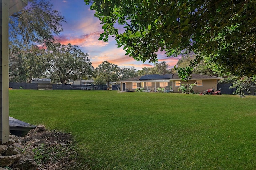
[[[99,41],[100,33],[103,33],[102,25],[98,18],[94,17],[94,11],[85,5],[83,0],[51,0],[54,9],[58,10],[68,23],[63,23],[64,31],[58,39],[62,44],[71,43],[78,45],[84,53],[88,53],[94,68],[98,67],[104,60],[116,64],[119,67],[136,70],[143,67],[153,67],[153,63],[136,61],[128,55],[122,47],[117,48],[114,38],[108,42]],[[122,26],[120,26],[122,28]],[[158,53],[158,62],[166,61],[170,68],[176,65],[178,58],[166,57],[163,52]]]

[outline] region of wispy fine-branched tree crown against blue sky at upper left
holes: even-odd
[[[64,17],[46,0],[29,0],[22,10],[12,14],[9,20],[11,39],[21,39],[24,44],[36,42],[50,45],[54,35],[63,31]]]

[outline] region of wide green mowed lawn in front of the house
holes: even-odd
[[[256,169],[256,96],[10,90],[10,116],[74,135],[91,169]]]

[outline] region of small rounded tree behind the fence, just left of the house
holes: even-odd
[[[108,61],[103,61],[98,67],[94,70],[94,77],[102,77],[105,83],[110,84],[118,80],[119,68],[117,65],[109,63]]]

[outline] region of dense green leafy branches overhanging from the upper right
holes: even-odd
[[[196,54],[178,68],[183,80],[203,56],[239,76],[256,74],[255,0],[84,0],[102,23],[103,41],[114,36],[118,47],[136,60]],[[118,23],[118,24],[116,24]],[[124,32],[118,32],[119,25]]]

